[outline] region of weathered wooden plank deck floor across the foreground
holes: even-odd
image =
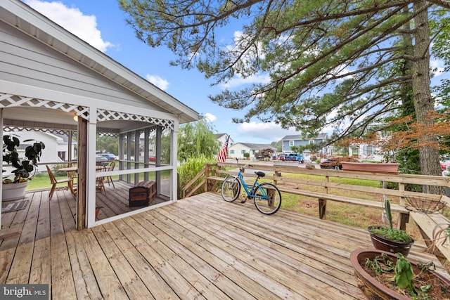
[[[51,299],[364,299],[349,254],[366,230],[204,193],[77,231],[70,193],[27,197],[2,215],[0,283],[50,283]],[[420,244],[409,257],[440,266]]]

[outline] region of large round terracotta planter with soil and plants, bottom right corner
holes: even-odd
[[[449,299],[450,280],[434,264],[409,261],[400,253],[357,249],[350,261],[368,299]]]

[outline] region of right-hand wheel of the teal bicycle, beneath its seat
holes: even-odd
[[[256,187],[253,195],[255,195],[255,207],[263,214],[275,214],[281,207],[281,193],[275,185],[271,183],[262,183]]]

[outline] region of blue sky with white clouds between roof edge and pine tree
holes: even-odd
[[[215,133],[229,133],[235,143],[271,143],[288,134],[296,134],[295,130],[287,131],[274,123],[262,123],[257,119],[233,124],[231,119],[242,117],[243,112],[219,107],[207,98],[219,93],[223,86],[211,86],[211,82],[196,70],[169,65],[175,57],[165,46],[151,48],[136,39],[116,0],[23,1],[200,115],[208,117]],[[232,30],[224,31],[222,39],[231,43],[233,34]],[[230,84],[239,87],[247,82],[236,79]]]

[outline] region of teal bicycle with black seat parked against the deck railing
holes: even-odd
[[[259,178],[266,176],[262,171],[255,171],[257,178],[253,185],[247,185],[244,181],[243,169],[247,167],[241,167],[238,162],[239,173],[236,176],[228,176],[225,178],[221,186],[221,195],[227,202],[233,202],[238,199],[240,195],[240,187],[243,186],[245,193],[244,200],[241,203],[245,203],[248,199],[253,199],[255,207],[262,214],[275,214],[281,207],[281,193],[272,183],[259,183]]]

